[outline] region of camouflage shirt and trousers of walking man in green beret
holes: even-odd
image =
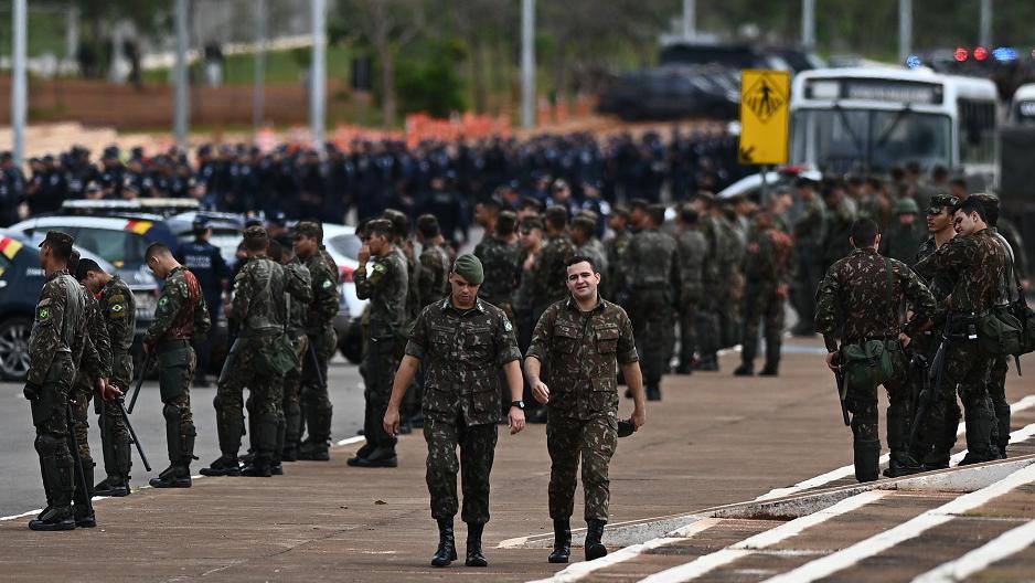
[[[462,470],[460,518],[469,524],[489,521],[489,473],[501,406],[498,370],[521,358],[513,330],[503,310],[488,301],[459,310],[446,298],[420,312],[406,344],[406,353],[425,365],[424,437],[436,520],[456,516],[457,471]]]

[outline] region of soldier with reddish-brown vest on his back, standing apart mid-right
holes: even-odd
[[[773,225],[772,214],[762,211],[755,216],[755,230],[747,245],[744,293],[744,333],[738,377],[755,373],[758,352],[758,320],[765,321],[766,365],[762,377],[776,377],[780,367],[783,339],[783,301],[790,288],[789,268],[793,243],[790,235]]]

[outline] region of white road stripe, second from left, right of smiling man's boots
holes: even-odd
[[[863,506],[875,502],[889,494],[890,491],[887,490],[869,490],[857,494],[851,498],[841,500],[830,508],[819,510],[809,516],[796,518],[790,522],[785,522],[779,527],[759,532],[754,537],[744,539],[736,544],[730,544],[719,551],[698,556],[689,563],[654,573],[643,579],[642,583],[677,583],[682,581],[693,581],[709,571],[753,554],[757,550],[771,547],[791,537],[797,537],[808,528],[821,524],[834,517],[858,510]]]

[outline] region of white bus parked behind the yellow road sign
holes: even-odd
[[[794,77],[791,163],[883,173],[918,162],[994,176],[995,85],[927,68],[826,68]]]

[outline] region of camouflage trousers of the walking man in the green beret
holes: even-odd
[[[457,474],[463,491],[460,518],[469,524],[489,521],[489,474],[498,438],[494,424],[471,425],[426,418],[424,438],[428,443],[427,484],[431,496],[431,518],[452,518],[459,509]],[[457,447],[460,457],[457,459]]]

